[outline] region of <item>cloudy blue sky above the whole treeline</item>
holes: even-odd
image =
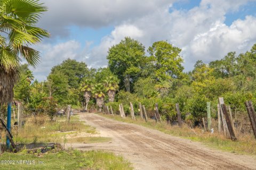
[[[106,67],[108,49],[124,37],[145,45],[167,40],[182,49],[185,71],[228,52],[244,53],[256,43],[256,0],[39,0],[48,7],[38,27],[48,30],[31,68],[46,80],[52,66],[71,58]]]

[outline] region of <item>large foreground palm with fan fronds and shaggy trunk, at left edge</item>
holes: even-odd
[[[37,0],[0,1],[0,104],[12,101],[19,62],[23,59],[31,66],[39,62],[39,52],[29,46],[50,36],[35,26],[46,10]]]

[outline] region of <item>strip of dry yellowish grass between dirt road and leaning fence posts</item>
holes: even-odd
[[[150,129],[155,129],[177,137],[190,139],[192,141],[202,142],[204,145],[223,151],[234,152],[237,154],[256,155],[256,140],[253,137],[253,134],[237,133],[238,140],[231,141],[222,134],[219,134],[218,131],[216,131],[216,128],[215,132],[211,134],[203,131],[201,128],[191,129],[186,124],[184,124],[182,128],[179,128],[178,126],[170,126],[166,123],[156,123],[154,120],[145,122],[145,120],[141,120],[140,117],[136,117],[135,120],[132,120],[130,117],[126,117],[124,119],[119,115],[115,115],[114,117],[106,114],[100,115],[117,121],[142,125]]]

